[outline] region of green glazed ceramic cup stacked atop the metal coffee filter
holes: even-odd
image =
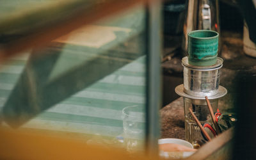
[[[216,31],[196,30],[188,33],[188,63],[211,66],[217,61],[219,34]]]

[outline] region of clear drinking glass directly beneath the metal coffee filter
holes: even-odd
[[[204,140],[201,134],[200,128],[195,122],[195,119],[189,112],[189,108],[192,109],[196,118],[203,125],[205,123],[212,124],[211,115],[204,99],[188,99],[184,97],[184,112],[185,112],[185,137],[186,141],[192,143],[194,148],[200,147],[198,141]],[[212,106],[212,110],[215,113],[218,108],[218,99],[209,100]]]

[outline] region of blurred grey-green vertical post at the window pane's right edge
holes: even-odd
[[[147,109],[146,148],[148,154],[158,151],[159,108],[161,106],[161,1],[147,3]]]

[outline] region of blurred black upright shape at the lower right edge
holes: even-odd
[[[232,159],[256,159],[256,76],[238,74],[237,124]]]

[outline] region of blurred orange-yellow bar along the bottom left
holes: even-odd
[[[0,129],[1,159],[159,159],[144,153],[128,154],[121,148],[87,145],[78,140],[56,138],[29,131]]]

